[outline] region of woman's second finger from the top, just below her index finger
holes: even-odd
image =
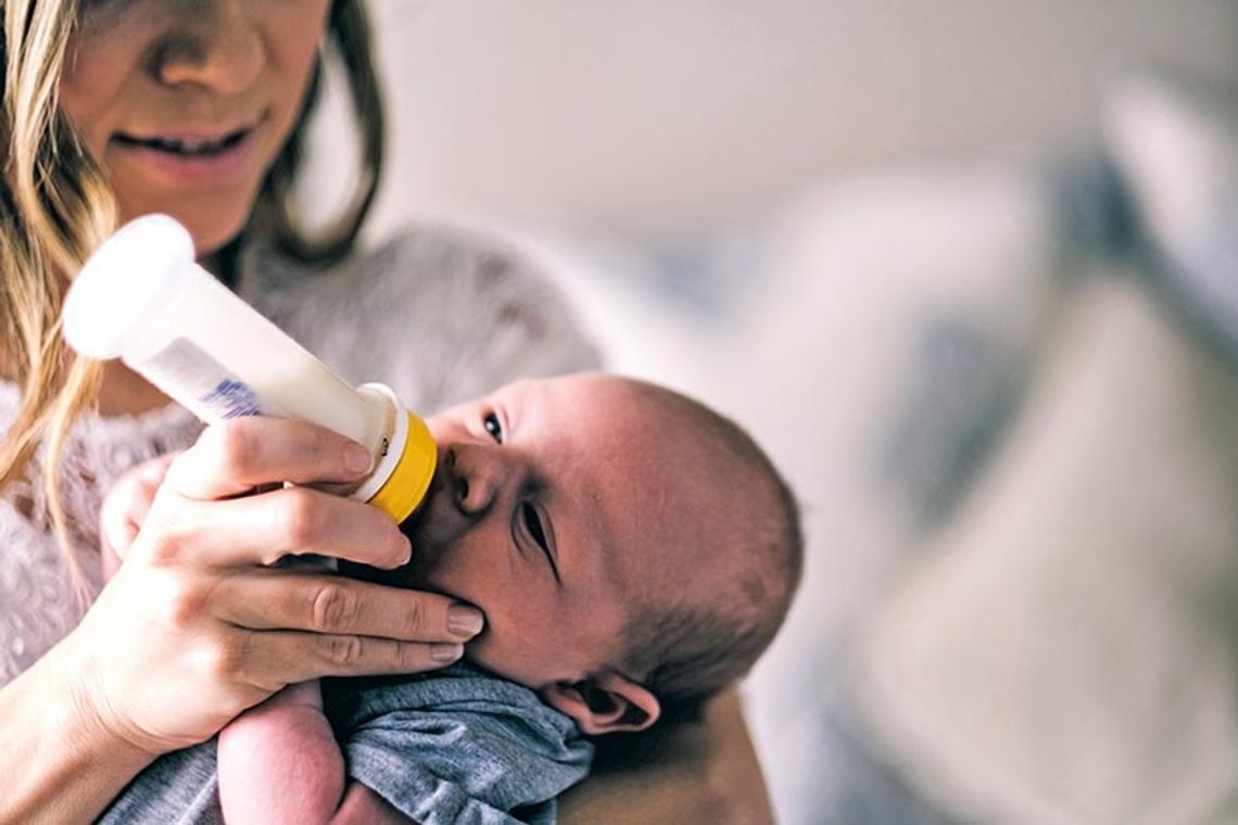
[[[411,555],[409,539],[383,511],[308,487],[165,503],[158,523],[144,529],[134,544],[134,552],[152,562],[240,568],[316,553],[395,568]]]

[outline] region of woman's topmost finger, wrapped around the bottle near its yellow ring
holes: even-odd
[[[228,498],[279,481],[358,481],[371,461],[364,447],[324,427],[249,416],[204,429],[168,468],[167,484],[187,498]]]

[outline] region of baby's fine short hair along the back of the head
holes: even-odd
[[[786,618],[803,568],[800,506],[770,458],[735,422],[664,387],[640,388],[672,414],[686,414],[708,449],[721,450],[771,503],[729,547],[717,548],[749,562],[733,586],[707,604],[638,605],[624,628],[626,667],[645,674],[641,683],[657,696],[661,719],[698,719],[706,700],[748,673]]]

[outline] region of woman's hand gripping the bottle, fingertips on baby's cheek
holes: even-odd
[[[321,427],[241,418],[208,428],[162,466],[135,470],[104,513],[125,563],[56,651],[68,657],[78,701],[114,735],[161,753],[208,738],[287,684],[458,658],[475,631],[448,630],[448,611],[453,627],[469,617],[479,627],[473,607],[270,566],[303,553],[379,568],[409,560],[407,539],[378,508],[303,486],[270,489],[354,481],[369,461]]]

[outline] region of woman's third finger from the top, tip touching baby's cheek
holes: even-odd
[[[297,630],[399,642],[465,642],[482,611],[435,592],[288,570],[230,576],[212,594],[219,617],[256,631]],[[262,575],[265,573],[265,575]]]

